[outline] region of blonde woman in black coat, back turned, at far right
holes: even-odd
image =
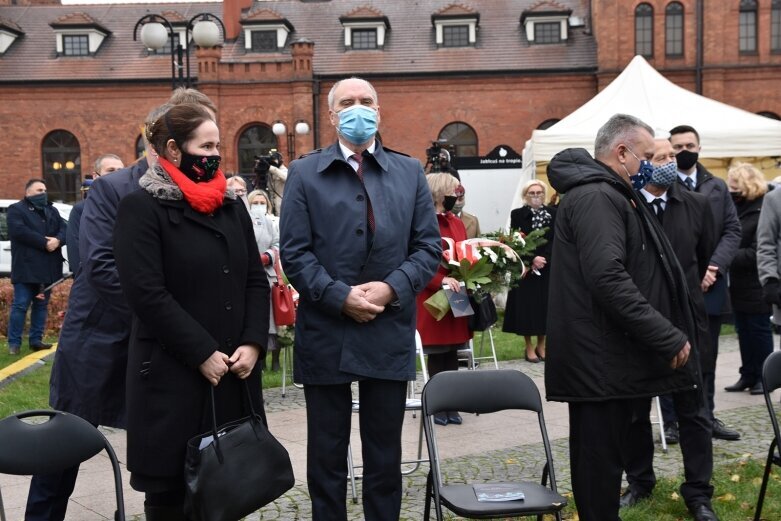
[[[728,392],[749,389],[762,394],[762,364],[773,352],[770,315],[773,309],[762,299],[757,271],[757,224],[767,181],[758,169],[738,163],[727,173],[727,186],[738,211],[742,235],[729,269],[729,291],[740,345],[740,378],[725,387]]]

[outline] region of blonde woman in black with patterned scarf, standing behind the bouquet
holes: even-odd
[[[547,228],[548,240],[534,252],[526,277],[507,295],[502,331],[523,335],[526,343],[526,361],[545,360],[545,328],[547,325],[550,253],[553,247],[553,222],[556,209],[545,206],[548,187],[539,179],[528,181],[521,191],[525,204],[510,213],[510,228],[528,234]],[[532,345],[532,336],[537,345]]]

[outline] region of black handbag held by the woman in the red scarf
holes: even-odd
[[[294,483],[290,456],[255,413],[217,428],[209,385],[212,430],[187,442],[184,511],[193,521],[237,521],[277,499]]]

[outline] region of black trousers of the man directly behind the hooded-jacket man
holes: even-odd
[[[686,506],[710,505],[713,497],[713,441],[711,421],[700,390],[673,393],[678,415],[685,480],[681,496]],[[650,494],[656,485],[654,440],[649,413],[651,399],[635,401],[629,436],[624,445],[624,467],[629,487],[639,494]]]

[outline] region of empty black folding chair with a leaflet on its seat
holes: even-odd
[[[489,414],[505,410],[526,410],[537,413],[537,420],[545,450],[545,465],[540,484],[531,481],[501,483],[444,483],[437,449],[433,417],[438,412],[460,411]],[[424,519],[428,521],[431,499],[438,520],[442,519],[442,505],[453,513],[467,518],[494,519],[533,516],[539,521],[543,514],[554,514],[561,521],[561,510],[567,499],[556,490],[553,455],[545,429],[540,393],[534,382],[513,370],[445,371],[433,376],[423,388],[423,419],[431,470],[426,485]],[[513,429],[512,425],[507,426]],[[519,437],[519,442],[520,437]],[[550,477],[550,483],[547,483]],[[493,487],[486,487],[493,485]],[[510,501],[480,501],[477,492],[485,488],[518,489],[523,499]],[[492,499],[497,499],[493,497]]]

